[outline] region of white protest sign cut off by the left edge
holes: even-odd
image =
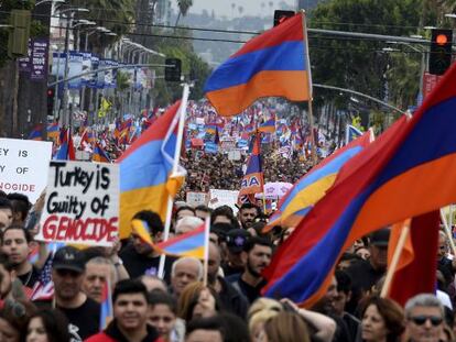
[[[0,139],[0,190],[34,203],[46,187],[51,156],[52,142]]]

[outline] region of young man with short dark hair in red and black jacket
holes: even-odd
[[[148,290],[139,279],[116,285],[112,309],[112,322],[87,342],[163,341],[155,328],[148,324]]]

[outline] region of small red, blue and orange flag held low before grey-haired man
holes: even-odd
[[[208,239],[206,223],[195,230],[161,242],[155,245],[156,251],[177,256],[194,256],[203,260],[205,241]]]

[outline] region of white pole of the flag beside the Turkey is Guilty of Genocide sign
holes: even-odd
[[[172,168],[171,176],[175,176],[178,169],[178,161],[181,156],[182,137],[184,134],[185,112],[187,109],[188,95],[189,95],[189,85],[184,84],[184,91],[182,93],[182,102],[181,102],[181,107],[178,108],[178,128],[177,128],[176,146],[174,150],[174,161],[173,161],[173,168]],[[163,241],[166,241],[170,238],[172,216],[173,216],[173,198],[169,196]],[[162,254],[160,256],[159,277],[162,279],[163,279],[165,258],[166,258],[165,254]]]

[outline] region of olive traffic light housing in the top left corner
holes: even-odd
[[[24,56],[29,53],[31,13],[28,10],[12,10],[8,37],[8,56]]]

